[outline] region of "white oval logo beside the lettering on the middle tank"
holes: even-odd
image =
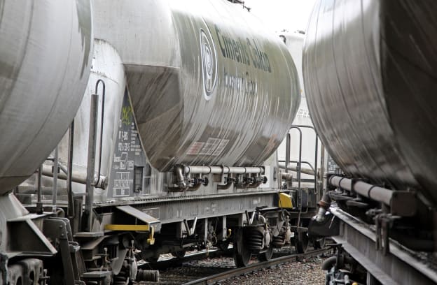
[[[209,100],[217,82],[217,54],[211,33],[200,29],[200,55],[202,59],[203,95]]]

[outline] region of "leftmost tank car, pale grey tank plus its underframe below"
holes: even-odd
[[[78,110],[90,73],[91,17],[86,0],[0,1],[1,284],[43,284],[35,254],[57,252],[42,233],[50,215],[29,213],[11,191],[47,158]]]

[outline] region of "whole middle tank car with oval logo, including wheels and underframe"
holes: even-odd
[[[96,0],[92,25],[69,131],[0,200],[11,284],[129,284],[138,258],[233,242],[245,266],[307,242],[292,232],[312,211],[274,154],[300,101],[284,43],[224,0]]]

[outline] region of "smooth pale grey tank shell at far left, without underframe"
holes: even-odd
[[[32,175],[67,131],[91,39],[89,0],[0,0],[0,194]]]

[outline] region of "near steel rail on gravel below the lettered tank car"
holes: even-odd
[[[278,258],[272,258],[270,261],[263,261],[259,263],[253,263],[244,268],[235,268],[231,270],[226,270],[224,272],[211,275],[208,277],[202,277],[200,279],[195,279],[190,282],[184,283],[184,285],[194,285],[194,284],[214,284],[216,282],[221,282],[226,279],[230,279],[232,277],[237,277],[240,275],[244,275],[250,272],[255,272],[261,270],[263,268],[270,268],[275,265],[279,265],[282,263],[287,263],[290,261],[299,261],[302,258],[310,258],[314,256],[319,256],[320,254],[325,254],[330,251],[331,247],[325,247],[324,249],[315,249],[312,251],[307,251],[305,254],[291,254],[287,256],[281,256]]]

